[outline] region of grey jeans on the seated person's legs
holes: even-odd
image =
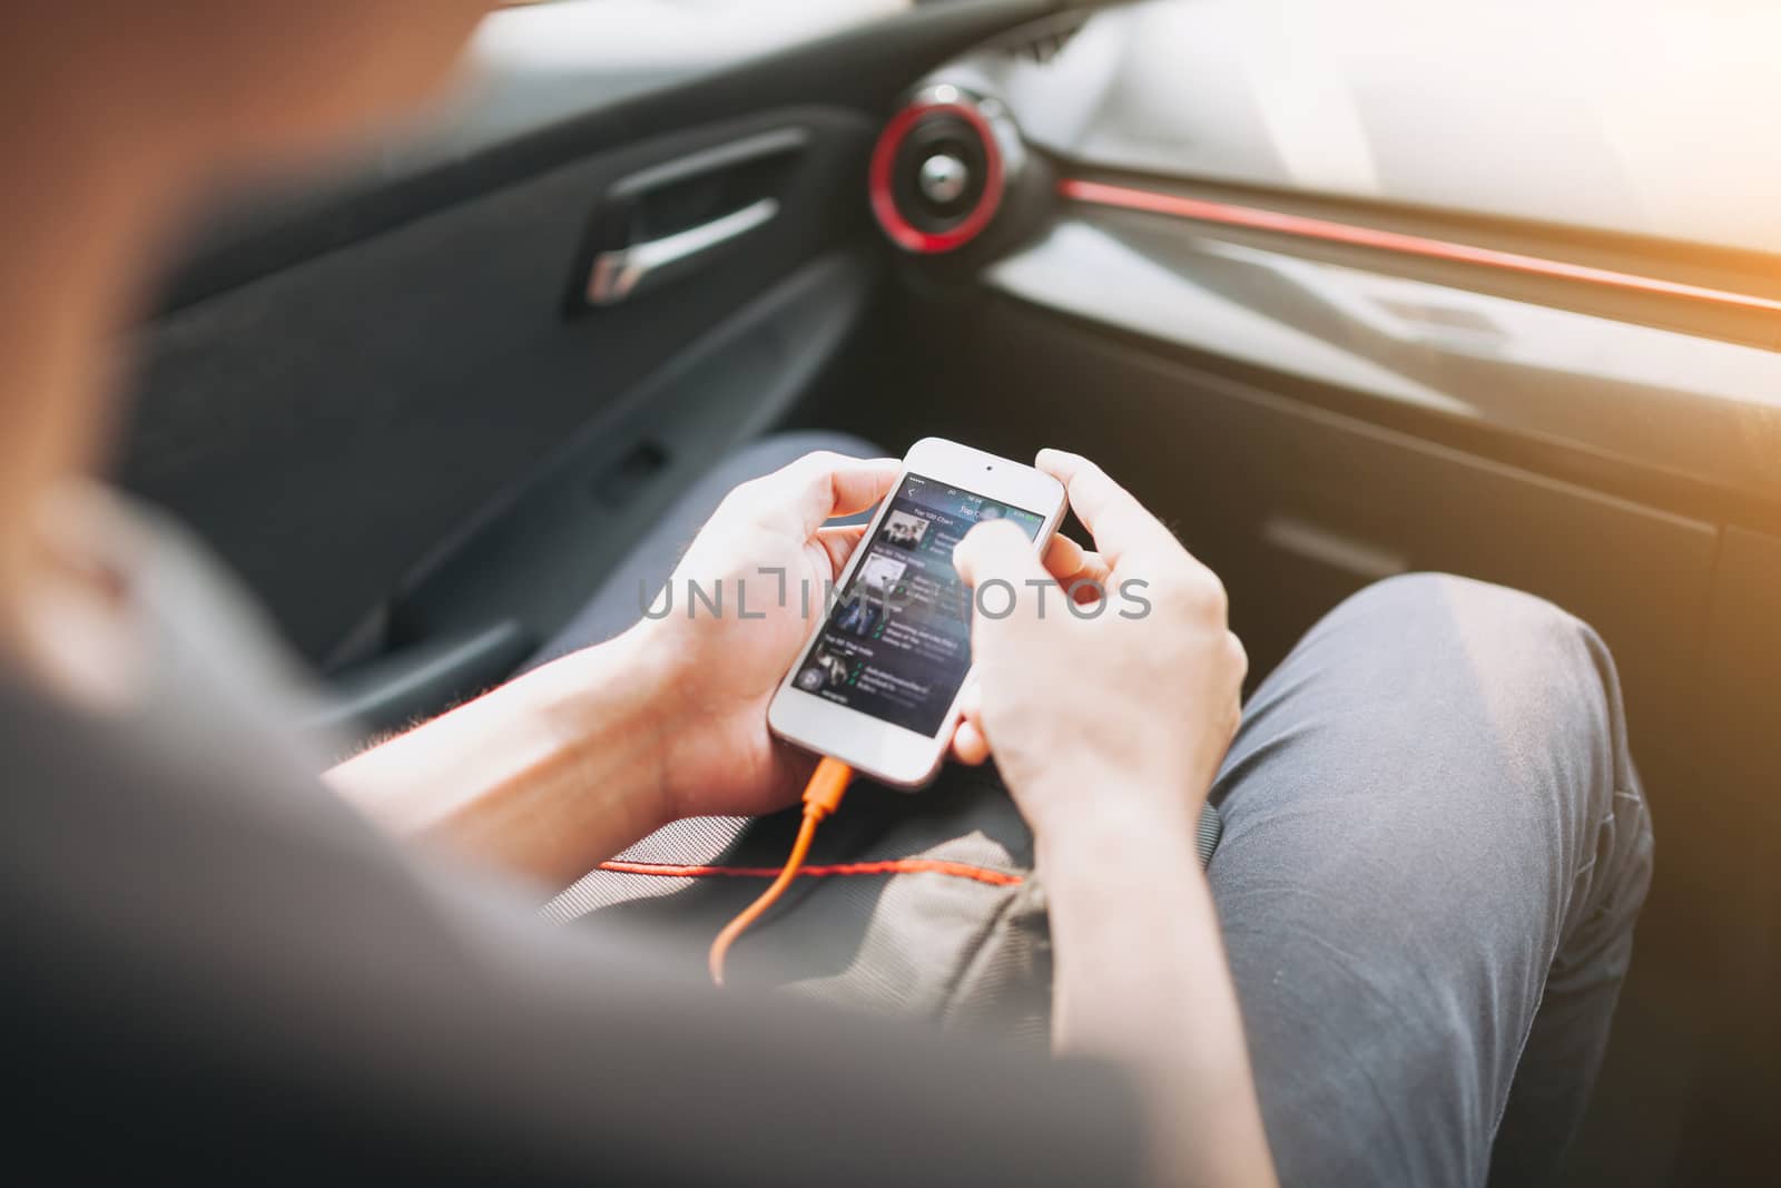
[[[630,625],[725,490],[817,447],[869,451],[789,435],[739,454],[540,659]],[[1208,873],[1282,1181],[1549,1176],[1651,880],[1596,632],[1459,577],[1371,586],[1250,698],[1213,798]]]

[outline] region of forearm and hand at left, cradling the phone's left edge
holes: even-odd
[[[898,463],[839,454],[736,488],[670,581],[670,613],[340,764],[328,782],[403,837],[563,887],[671,819],[796,801],[814,757],[768,700]],[[720,591],[693,606],[689,584]],[[746,588],[746,590],[744,590]],[[641,591],[654,593],[654,591]],[[748,607],[744,611],[744,607]]]

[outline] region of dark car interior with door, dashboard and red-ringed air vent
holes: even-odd
[[[1459,7],[497,11],[443,110],[169,248],[121,481],[322,673],[296,725],[360,737],[504,680],[785,429],[1095,458],[1224,579],[1252,684],[1395,574],[1546,597],[1614,650],[1658,837],[1567,1183],[1742,1177],[1781,1065],[1781,23]]]

